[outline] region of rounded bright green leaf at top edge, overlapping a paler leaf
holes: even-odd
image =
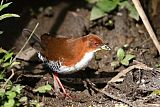
[[[96,6],[104,12],[111,12],[117,7],[119,1],[120,0],[101,0],[97,2]]]

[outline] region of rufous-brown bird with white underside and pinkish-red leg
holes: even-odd
[[[49,34],[43,34],[40,38],[35,37],[35,35],[32,38],[32,42],[36,41],[41,47],[41,50],[37,52],[38,58],[53,71],[53,78],[57,81],[65,96],[67,96],[67,92],[58,74],[72,74],[84,69],[97,51],[111,50],[95,34],[77,38],[53,37]]]

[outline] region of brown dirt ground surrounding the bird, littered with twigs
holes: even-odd
[[[160,16],[153,16],[151,6],[145,3],[143,6],[159,38]],[[37,22],[39,26],[35,33],[39,36],[50,33],[52,36],[81,37],[93,33],[103,38],[112,49],[109,52],[97,52],[99,60],[94,58],[85,70],[60,75],[72,99],[57,96],[54,91],[40,95],[34,93],[33,89],[47,83],[49,70],[42,66],[36,55],[29,61],[22,61],[13,81],[26,86],[24,96],[39,99],[44,107],[120,107],[121,104],[121,107],[160,107],[160,96],[151,95],[153,90],[160,89],[160,73],[156,66],[160,64],[160,57],[143,23],[131,19],[126,10],[90,22],[91,5],[83,0],[16,0],[11,9],[7,11],[16,12],[21,17],[0,23],[4,31],[0,45],[5,49],[13,48],[18,52],[25,42],[22,30],[33,30]],[[108,19],[114,22],[113,26],[105,24]],[[125,50],[136,58],[129,66],[111,67],[111,62],[117,60],[118,48],[125,44],[128,44]],[[123,81],[108,83],[123,70],[128,70]],[[52,79],[48,82],[53,84]]]

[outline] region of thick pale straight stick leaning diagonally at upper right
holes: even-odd
[[[146,14],[145,14],[142,6],[141,6],[141,3],[139,2],[139,0],[132,0],[132,2],[135,5],[135,7],[136,7],[136,9],[137,9],[137,11],[138,11],[143,23],[144,23],[144,26],[146,27],[151,39],[153,40],[154,45],[156,46],[156,48],[157,48],[157,50],[158,50],[158,52],[160,54],[160,44],[159,44],[159,42],[157,40],[157,37],[156,37],[156,35],[155,35],[155,33],[154,33],[149,21],[148,21],[148,18],[147,18]]]

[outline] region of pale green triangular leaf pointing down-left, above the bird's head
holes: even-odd
[[[99,19],[105,15],[106,15],[106,13],[104,11],[102,11],[98,7],[94,6],[91,10],[90,20],[96,20],[96,19]]]

